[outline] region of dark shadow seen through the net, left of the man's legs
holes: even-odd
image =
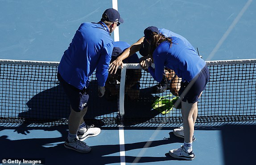
[[[18,117],[27,124],[61,121],[68,118],[70,112],[70,103],[60,85],[34,95],[26,104],[28,111]]]

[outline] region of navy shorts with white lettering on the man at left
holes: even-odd
[[[66,83],[66,81],[62,79],[59,73],[57,77],[70,101],[70,106],[72,107],[72,109],[76,112],[80,112],[81,110],[86,108],[88,106],[87,102],[89,99],[87,89],[84,87],[83,90],[79,90],[78,88],[70,85],[69,83]]]

